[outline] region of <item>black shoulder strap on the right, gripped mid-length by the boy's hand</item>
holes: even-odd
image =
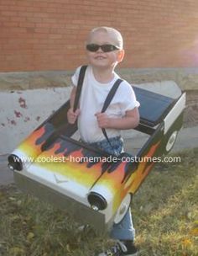
[[[107,107],[112,102],[112,98],[115,95],[115,93],[117,92],[117,88],[119,87],[120,83],[122,83],[122,79],[117,79],[117,81],[113,84],[113,86],[112,86],[111,90],[109,91],[107,98],[105,99],[105,102],[103,104],[102,111],[101,111],[102,113],[106,111]],[[109,141],[109,138],[107,136],[107,131],[104,128],[102,128],[102,133],[106,137],[110,146],[112,147],[111,142]]]

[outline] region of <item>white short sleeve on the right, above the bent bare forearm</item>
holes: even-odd
[[[126,111],[138,108],[140,104],[136,99],[133,87],[129,83],[123,83],[123,85],[120,88],[120,96],[122,97],[122,101],[120,102],[120,109],[122,115],[125,115]]]

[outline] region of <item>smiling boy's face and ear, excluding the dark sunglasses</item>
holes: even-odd
[[[94,32],[87,41],[87,44],[117,46],[115,40],[113,40],[113,36],[109,35],[106,31]],[[102,51],[102,48],[99,48],[97,51],[87,50],[86,52],[91,66],[97,68],[113,68],[118,62],[122,61],[124,56],[123,50],[104,52]]]

